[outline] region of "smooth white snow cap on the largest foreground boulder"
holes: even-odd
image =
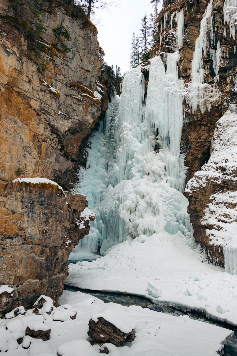
[[[101,310],[101,312],[93,314],[91,319],[96,323],[98,318],[102,317],[109,321],[125,334],[129,334],[136,327],[136,321],[124,309],[117,306],[112,306]]]

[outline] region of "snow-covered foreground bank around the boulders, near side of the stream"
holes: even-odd
[[[214,356],[217,355],[216,351],[221,350],[223,341],[232,334],[230,330],[192,320],[188,316],[177,317],[136,306],[123,307],[119,304],[104,303],[100,299],[81,292],[64,291],[59,298],[59,303],[70,304],[77,312],[76,318],[61,322],[53,321],[52,315],[44,314],[46,318],[44,323],[47,328],[51,329],[48,341],[26,336],[23,343],[18,345],[15,340],[15,342],[10,341],[7,334],[17,337],[18,325],[24,324],[22,321],[29,316],[17,316],[8,321],[0,319],[0,350],[2,350],[0,353],[6,356],[56,356],[57,352],[62,356],[100,355],[99,345],[92,347],[86,341],[88,340],[88,321],[92,315],[97,313],[100,315],[105,308],[114,306],[121,309],[123,316],[128,313],[128,320],[135,319],[136,337],[133,342],[126,343],[122,347],[107,344],[108,349],[112,350],[110,354],[113,356]],[[39,319],[40,316],[33,315],[33,319]],[[11,322],[11,328],[9,328],[11,333],[5,329],[5,324],[8,323],[9,326],[9,322]],[[29,348],[23,349],[22,345],[28,346],[30,341]],[[12,350],[4,352],[7,342],[8,348],[11,345]]]

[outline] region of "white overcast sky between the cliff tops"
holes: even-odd
[[[105,52],[104,60],[109,66],[120,66],[122,74],[129,69],[133,31],[140,33],[140,22],[145,12],[152,12],[150,0],[117,0],[119,7],[111,12],[98,11],[102,18],[98,25],[98,41]],[[103,27],[103,28],[101,28]]]

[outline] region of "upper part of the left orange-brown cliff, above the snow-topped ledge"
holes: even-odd
[[[28,56],[14,6],[0,0],[0,179],[16,178],[16,169],[26,163],[28,176],[71,188],[80,145],[107,109],[111,89],[110,79],[103,82],[97,30],[77,6],[46,1],[41,55],[47,65],[39,72]],[[62,23],[71,37],[67,53],[55,45],[53,33]],[[100,99],[94,94],[98,86]]]

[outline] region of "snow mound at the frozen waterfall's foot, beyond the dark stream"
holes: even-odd
[[[70,264],[66,283],[144,295],[237,325],[237,276],[204,259],[176,235],[154,234],[113,246],[96,261]]]

